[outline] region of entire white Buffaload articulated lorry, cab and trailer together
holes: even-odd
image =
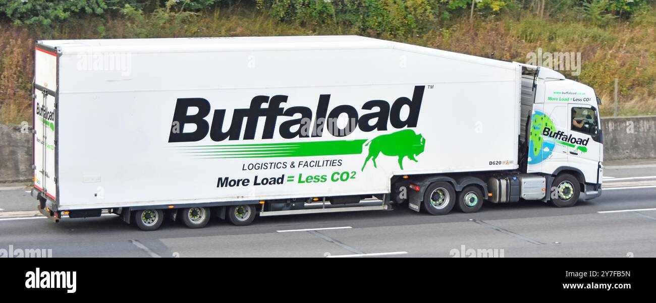
[[[599,99],[548,68],[358,36],[37,41],[34,188],[142,230],[255,216],[570,207]]]

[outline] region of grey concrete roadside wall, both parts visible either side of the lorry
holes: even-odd
[[[656,159],[656,115],[602,118],[604,160]],[[32,178],[31,129],[0,125],[0,182]]]

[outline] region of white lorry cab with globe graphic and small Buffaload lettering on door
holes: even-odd
[[[579,192],[575,189],[581,192],[579,201],[598,197],[601,195],[604,142],[600,101],[594,89],[565,79],[548,68],[524,68],[527,71],[522,75],[522,109],[530,108],[530,112],[522,113],[527,121],[526,172],[555,176],[547,178],[546,188],[550,189],[552,201],[558,196],[565,199]],[[525,93],[529,82],[532,91]],[[535,102],[527,106],[530,97]],[[564,174],[573,176],[577,182],[557,177]]]

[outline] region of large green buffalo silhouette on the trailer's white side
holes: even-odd
[[[424,144],[426,144],[426,138],[421,134],[415,134],[415,131],[411,129],[377,136],[365,144],[365,146],[369,146],[369,155],[367,155],[361,171],[365,170],[369,159],[373,162],[373,167],[377,168],[376,158],[380,153],[389,157],[399,157],[399,167],[403,169],[403,158],[407,157],[417,162],[415,157],[424,152]]]

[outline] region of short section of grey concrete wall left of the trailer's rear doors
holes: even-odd
[[[0,125],[0,182],[26,181],[32,174],[31,127]]]

